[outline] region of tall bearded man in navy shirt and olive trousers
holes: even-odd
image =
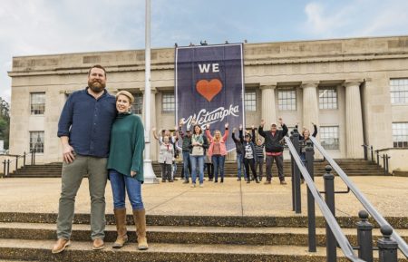
[[[105,86],[105,69],[99,64],[93,65],[88,72],[88,86],[68,97],[58,122],[63,172],[54,254],[63,252],[71,244],[75,196],[85,175],[88,175],[91,196],[92,249],[104,247],[106,163],[116,117],[115,97]]]

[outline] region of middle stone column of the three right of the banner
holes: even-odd
[[[319,124],[319,103],[317,100],[317,86],[318,82],[302,82],[303,88],[303,120],[302,126],[299,126],[299,132],[305,126],[310,133],[313,133],[314,122],[317,126]]]

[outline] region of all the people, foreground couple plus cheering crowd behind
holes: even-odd
[[[141,199],[143,184],[143,150],[144,127],[141,118],[131,113],[134,97],[130,92],[121,91],[112,96],[106,91],[106,70],[101,65],[93,65],[88,72],[88,85],[81,91],[73,92],[63,106],[58,122],[58,137],[63,148],[62,189],[59,199],[57,218],[57,238],[52,248],[53,254],[61,253],[71,245],[74,204],[83,177],[88,175],[91,196],[91,238],[92,249],[105,247],[105,187],[111,181],[113,196],[113,214],[116,222],[117,238],[114,248],[123,247],[128,241],[126,227],[126,204],[128,195],[131,211],[136,226],[138,249],[148,249],[146,238],[146,213]],[[258,134],[264,141],[256,140],[255,127],[252,132],[245,132],[239,126],[238,138],[236,129],[232,139],[237,145],[238,180],[242,175],[249,183],[262,180],[264,149],[267,165],[267,184],[272,179],[271,167],[277,162],[278,176],[281,184],[286,184],[283,173],[283,138],[287,135],[287,126],[279,119],[282,130],[273,123],[270,130],[264,131],[265,121],[261,121]],[[159,162],[162,168],[162,180],[175,180],[176,141],[182,141],[183,158],[182,176],[184,183],[196,187],[204,182],[204,166],[209,172],[209,181],[224,182],[224,163],[227,156],[228,123],[224,134],[216,130],[209,131],[207,124],[203,131],[201,126],[193,123],[192,131],[182,131],[180,121],[178,131],[162,131],[160,137],[153,129],[153,136],[160,143]],[[177,128],[176,128],[177,129]],[[316,136],[316,125],[315,132]],[[308,140],[309,131],[303,132],[302,140]],[[303,155],[304,153],[300,152]],[[257,173],[257,166],[259,172]],[[245,168],[243,168],[245,167]],[[258,176],[258,175],[259,176]],[[219,180],[220,178],[220,180]]]

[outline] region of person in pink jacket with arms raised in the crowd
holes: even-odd
[[[214,136],[209,132],[209,124],[207,124],[206,136],[209,138],[209,157],[214,165],[215,180],[219,182],[219,173],[221,175],[221,183],[224,182],[224,163],[227,155],[226,141],[228,139],[228,123],[225,124],[225,133],[221,136],[221,132],[214,131]]]

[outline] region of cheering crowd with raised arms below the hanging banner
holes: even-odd
[[[274,162],[277,165],[277,175],[280,184],[286,185],[283,170],[283,151],[284,137],[287,135],[287,125],[279,118],[281,129],[278,129],[277,123],[272,123],[269,130],[264,130],[265,121],[261,121],[258,129],[251,126],[248,130],[239,125],[238,137],[237,128],[233,128],[231,138],[235,142],[237,152],[237,180],[242,177],[250,183],[252,180],[259,183],[263,179],[263,166],[266,165],[266,181],[270,184],[272,180],[272,166]],[[316,136],[316,125],[313,136]],[[224,133],[219,130],[210,131],[210,125],[207,124],[202,130],[199,124],[194,121],[192,130],[183,131],[183,121],[180,121],[179,127],[175,128],[173,135],[170,131],[162,131],[162,136],[158,137],[156,129],[153,128],[153,136],[160,143],[159,162],[161,166],[161,180],[170,182],[176,180],[175,159],[178,156],[177,141],[181,141],[181,152],[183,168],[181,177],[183,182],[195,188],[197,178],[199,178],[199,187],[204,186],[204,171],[207,170],[209,181],[223,183],[225,178],[225,159],[227,156],[226,142],[228,140],[228,123],[224,125]],[[257,136],[258,133],[258,136]],[[301,141],[308,140],[310,131],[306,128],[302,131]],[[262,138],[261,138],[262,137]],[[302,160],[305,160],[305,152],[300,151]],[[220,179],[220,180],[219,180]]]

